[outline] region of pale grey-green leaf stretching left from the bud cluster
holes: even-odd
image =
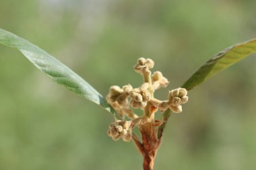
[[[77,95],[102,106],[102,108],[112,113],[113,116],[116,116],[115,110],[113,110],[106,99],[96,89],[38,46],[2,29],[0,29],[0,43],[20,50],[37,69],[46,74],[51,80],[62,85],[69,91],[73,91]]]

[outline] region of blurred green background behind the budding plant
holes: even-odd
[[[255,38],[256,1],[1,0],[0,27],[37,44],[106,95],[133,87],[137,58],[170,80],[218,51]],[[189,92],[168,122],[155,169],[256,169],[255,54]],[[142,169],[132,142],[106,134],[113,117],[55,85],[0,46],[0,169]]]

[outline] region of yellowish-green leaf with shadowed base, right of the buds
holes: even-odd
[[[208,60],[184,83],[182,87],[187,90],[193,89],[196,85],[210,79],[210,77],[249,56],[249,54],[253,52],[256,52],[256,39],[230,46],[230,48],[222,50]]]

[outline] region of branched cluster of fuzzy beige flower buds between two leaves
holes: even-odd
[[[154,91],[161,87],[167,87],[170,82],[160,71],[155,71],[152,74],[150,69],[153,67],[154,61],[150,58],[139,58],[134,69],[143,76],[142,85],[137,88],[133,88],[131,85],[125,85],[122,88],[117,85],[110,87],[106,100],[119,112],[122,119],[125,116],[131,119],[130,121],[117,120],[110,124],[108,136],[112,137],[113,140],[123,138],[124,141],[129,141],[131,139],[131,129],[135,126],[141,127],[146,123],[159,126],[162,122],[154,120],[154,114],[158,109],[161,111],[170,109],[174,113],[182,112],[181,104],[186,103],[189,99],[187,90],[184,88],[173,89],[168,93],[168,100],[160,101],[156,99]],[[143,115],[137,116],[131,108],[140,108],[143,110]]]

